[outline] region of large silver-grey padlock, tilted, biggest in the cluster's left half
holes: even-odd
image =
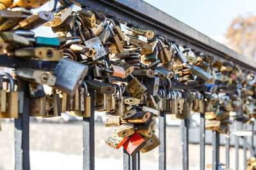
[[[53,72],[56,77],[54,87],[70,96],[74,96],[87,72],[88,66],[84,64],[69,59],[60,60]]]

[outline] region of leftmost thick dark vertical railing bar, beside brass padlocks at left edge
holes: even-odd
[[[23,113],[14,120],[15,124],[15,170],[29,170],[29,96],[28,83],[20,81],[20,92],[23,92]]]

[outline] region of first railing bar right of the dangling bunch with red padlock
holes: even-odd
[[[161,111],[159,115],[159,169],[166,170],[166,114]]]

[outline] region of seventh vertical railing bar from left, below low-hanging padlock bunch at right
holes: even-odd
[[[217,131],[212,131],[212,169],[218,170],[220,159],[220,134]]]

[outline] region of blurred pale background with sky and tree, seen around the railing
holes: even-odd
[[[177,20],[223,43],[244,56],[256,60],[256,1],[168,1],[145,0],[168,13]],[[47,3],[34,10],[47,10]],[[53,37],[50,27],[35,30],[36,36]],[[95,113],[95,169],[122,169],[123,150],[110,148],[104,139],[113,131],[104,127],[104,113]],[[14,169],[14,123],[11,119],[1,120],[0,170]],[[199,138],[200,115],[192,114],[189,138]],[[180,120],[167,117],[167,169],[182,169]],[[158,125],[156,125],[157,129]],[[158,135],[158,131],[156,133]],[[222,136],[222,135],[221,135]],[[223,138],[222,136],[221,138]],[[82,169],[82,119],[63,113],[56,118],[31,118],[30,124],[31,169]],[[193,139],[191,139],[193,141]],[[211,131],[206,140],[211,141]],[[205,148],[206,164],[212,164],[212,147]],[[243,158],[241,163],[243,169]],[[230,150],[230,166],[234,169],[234,148]],[[199,169],[199,145],[189,144],[189,169]],[[225,148],[220,148],[220,162],[225,162]],[[141,154],[141,169],[158,168],[158,148]],[[211,169],[211,168],[210,168]]]

